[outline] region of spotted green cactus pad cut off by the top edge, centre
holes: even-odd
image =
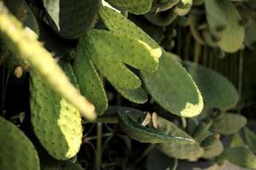
[[[108,2],[128,10],[132,14],[145,14],[151,8],[153,0],[108,0]]]

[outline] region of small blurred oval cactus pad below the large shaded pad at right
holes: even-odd
[[[212,124],[214,131],[222,134],[238,133],[247,124],[245,116],[232,113],[224,113],[223,117]]]

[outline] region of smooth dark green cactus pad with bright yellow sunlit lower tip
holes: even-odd
[[[201,113],[201,93],[174,54],[164,52],[160,58],[159,69],[154,73],[141,72],[148,93],[166,111],[185,117],[198,116]]]

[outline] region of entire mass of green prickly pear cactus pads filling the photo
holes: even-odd
[[[157,126],[142,124],[143,111],[115,111],[119,127],[131,139],[154,144],[177,159],[214,158],[256,169],[256,134],[246,127],[245,116],[230,111],[239,101],[235,86],[217,71],[170,51],[179,45],[174,41],[176,25],[188,27],[195,43],[223,54],[253,48],[252,2],[0,0],[0,65],[17,78],[29,74],[26,115],[39,145],[55,159],[40,164],[39,158],[44,161],[36,142],[1,116],[0,169],[83,169],[71,161],[87,130],[81,116],[84,122],[108,117],[108,82],[131,103],[142,105],[150,98],[166,111],[154,120]],[[143,17],[157,28],[159,38],[143,31],[127,14],[129,19]],[[169,35],[163,37],[163,32]],[[172,122],[170,115],[181,117],[187,126]],[[220,135],[233,135],[228,147]]]

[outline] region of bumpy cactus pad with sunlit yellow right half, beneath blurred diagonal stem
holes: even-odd
[[[41,144],[55,159],[72,158],[79,151],[82,140],[79,111],[55,94],[37,71],[31,71],[30,91],[32,126]]]

